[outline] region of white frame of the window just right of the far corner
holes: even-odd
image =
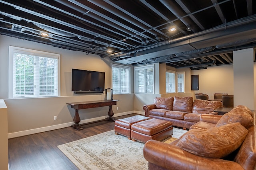
[[[135,94],[155,94],[155,70],[154,70],[154,64],[150,64],[150,65],[146,65],[146,66],[136,66],[134,67],[134,93]],[[146,70],[146,69],[152,69],[152,92],[150,93],[147,93],[147,92],[139,92],[139,88],[138,88],[138,82],[137,82],[137,79],[136,79],[136,72],[137,70]],[[144,77],[144,79],[146,79],[146,77]]]

